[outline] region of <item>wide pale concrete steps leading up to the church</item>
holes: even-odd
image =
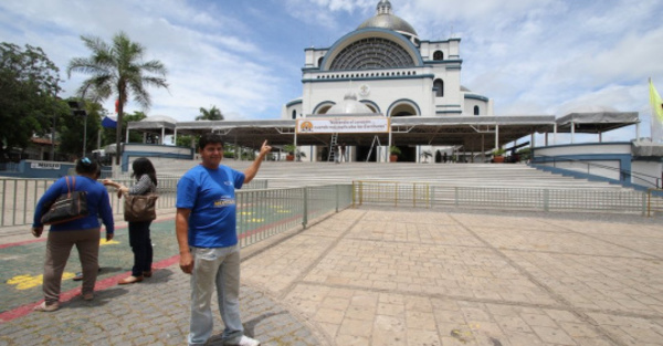
[[[159,160],[159,175],[181,176],[198,165],[191,160]],[[238,170],[251,161],[223,160]],[[523,164],[378,164],[378,162],[292,162],[264,161],[256,179],[269,180],[270,188],[351,184],[358,180],[430,182],[444,187],[524,189],[624,189],[603,181],[589,181],[537,170]],[[625,190],[625,189],[624,189]]]

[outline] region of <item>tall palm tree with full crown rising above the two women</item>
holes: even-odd
[[[168,88],[165,77],[167,70],[158,60],[144,62],[145,48],[131,42],[122,31],[113,36],[112,44],[94,36],[81,36],[81,40],[92,51],[92,55],[72,59],[66,73],[70,77],[72,72],[91,75],[78,90],[81,95],[90,92],[96,98],[95,101],[117,97],[115,164],[119,165],[124,106],[129,97],[133,97],[144,109],[149,108],[151,99],[146,87]]]

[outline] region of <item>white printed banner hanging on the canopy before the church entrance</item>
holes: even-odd
[[[370,134],[389,129],[387,117],[297,119],[297,134]]]

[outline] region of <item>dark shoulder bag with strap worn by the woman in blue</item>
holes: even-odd
[[[87,211],[87,191],[75,191],[76,177],[64,177],[66,180],[66,193],[62,193],[51,206],[46,207],[48,211],[42,216],[43,224],[57,224],[85,218]]]

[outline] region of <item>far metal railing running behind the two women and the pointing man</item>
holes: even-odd
[[[175,212],[178,180],[179,177],[158,177],[158,213]],[[128,177],[115,181],[125,186],[134,184],[134,179]],[[53,182],[55,182],[55,179],[0,179],[0,227],[32,224],[36,202]],[[254,179],[242,187],[242,190],[265,189],[266,187],[267,180]],[[109,189],[108,197],[110,198],[115,220],[122,221],[123,200],[117,198],[117,193],[113,189]]]

